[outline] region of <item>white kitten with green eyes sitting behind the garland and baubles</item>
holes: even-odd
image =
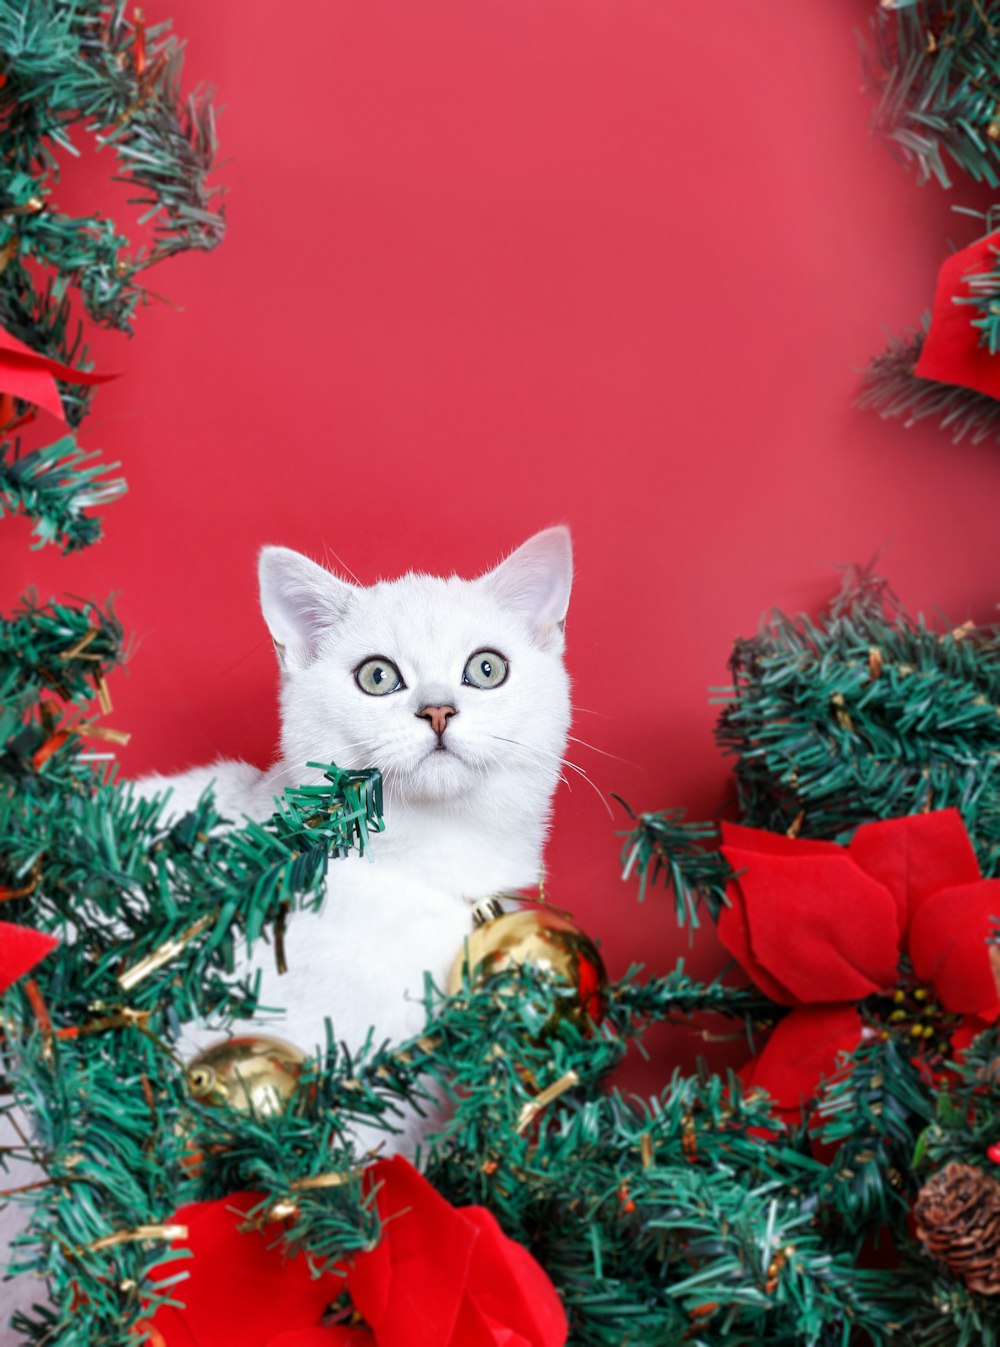
[[[385,831],[330,865],[319,913],[295,913],[287,974],[257,944],[270,1028],[313,1051],[323,1017],[349,1048],[423,1025],[472,928],[472,904],[538,881],[570,723],[563,624],[569,531],[536,533],[474,581],[408,574],[360,587],[296,552],[260,554],[260,602],[282,669],[280,758],[146,777],[189,808],[210,783],[224,814],[264,819],[307,761],[377,766]],[[237,1029],[241,1028],[237,1025]]]

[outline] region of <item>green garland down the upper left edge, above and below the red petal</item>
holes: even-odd
[[[174,253],[214,248],[225,220],[209,176],[214,110],[182,92],[182,46],[168,24],[127,19],[125,0],[0,0],[0,325],[32,350],[89,369],[81,318],[131,331],[148,302],[146,272]],[[137,237],[94,210],[59,209],[59,168],[92,141],[111,178],[143,209]],[[159,298],[159,296],[155,296]],[[0,389],[1,391],[1,389]],[[93,389],[63,384],[77,427]],[[24,405],[18,411],[23,412]],[[55,446],[3,451],[0,506],[27,515],[40,541],[65,550],[100,536],[84,502],[106,504],[94,455]]]

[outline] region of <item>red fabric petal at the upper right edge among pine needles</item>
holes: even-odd
[[[991,271],[996,265],[993,249],[999,234],[978,238],[972,247],[951,253],[938,272],[930,330],[923,342],[915,373],[941,384],[974,388],[989,397],[1000,397],[1000,360],[980,346],[980,330],[972,326],[976,317],[970,304],[956,304],[957,295],[968,296],[968,275]]]

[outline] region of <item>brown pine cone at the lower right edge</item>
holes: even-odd
[[[1000,1183],[972,1165],[945,1165],[914,1204],[916,1235],[969,1290],[1000,1296]]]

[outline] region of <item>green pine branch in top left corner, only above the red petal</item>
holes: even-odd
[[[168,24],[146,31],[125,19],[124,0],[4,0],[0,58],[4,140],[9,147],[4,198],[23,214],[5,224],[20,256],[62,275],[80,273],[89,317],[125,326],[143,298],[136,275],[189,248],[214,248],[224,218],[208,176],[217,155],[214,113],[206,96],[182,100],[182,47]],[[75,220],[54,209],[59,154],[75,154],[85,129],[115,151],[117,178],[136,189],[154,224],[154,245],[128,252],[128,238],[106,218]],[[35,198],[42,209],[27,209]]]

